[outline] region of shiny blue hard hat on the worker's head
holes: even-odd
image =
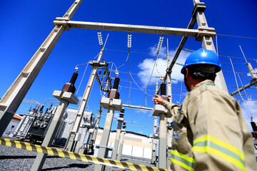
[[[218,56],[215,51],[206,50],[199,48],[197,51],[191,53],[188,58],[186,58],[185,65],[181,69],[181,73],[185,73],[186,66],[196,65],[196,64],[208,64],[216,67],[216,73],[221,71],[221,64],[219,63]]]

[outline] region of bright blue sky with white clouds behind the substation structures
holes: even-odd
[[[254,0],[246,1],[204,1],[206,3],[206,19],[208,26],[216,28],[218,41],[218,54],[222,64],[223,74],[228,86],[228,91],[236,90],[236,80],[231,67],[231,61],[236,72],[238,86],[246,85],[251,80],[251,76],[247,76],[248,68],[246,61],[239,46],[243,48],[243,52],[248,58],[253,68],[257,68],[256,63],[256,16],[257,2]],[[56,17],[63,16],[74,1],[56,0],[56,1],[1,1],[0,10],[0,97],[8,90],[11,83],[19,75],[26,63],[34,55],[41,43],[49,35],[54,28],[52,21]],[[191,11],[193,9],[193,1],[83,1],[79,10],[74,15],[73,21],[92,21],[115,24],[136,24],[146,26],[167,26],[174,28],[186,28],[191,19]],[[197,26],[195,26],[197,28]],[[106,51],[104,51],[104,60],[115,63],[116,67],[121,66],[128,56],[127,34],[125,32],[101,31],[105,41],[107,34],[109,38],[106,43]],[[221,36],[230,35],[230,36]],[[155,90],[152,86],[158,78],[152,78],[151,86],[148,86],[148,94],[144,99],[148,78],[151,75],[152,66],[156,59],[156,47],[161,35],[132,33],[132,47],[130,56],[130,71],[133,76],[129,76],[129,61],[120,67],[119,77],[121,78],[120,93],[123,103],[131,105],[143,105],[153,107],[151,103],[151,95]],[[244,36],[251,38],[236,38],[231,36]],[[153,76],[163,76],[166,68],[166,51],[168,49],[172,55],[176,51],[181,37],[164,36],[163,46],[158,56],[157,68],[153,71]],[[213,40],[216,45],[216,39]],[[201,48],[201,42],[195,41],[194,38],[188,38],[184,48],[196,50]],[[113,51],[115,50],[115,51]],[[53,98],[54,90],[61,90],[66,82],[69,82],[74,68],[77,64],[87,63],[92,60],[100,51],[97,38],[97,31],[71,28],[65,31],[48,60],[41,69],[39,76],[34,81],[25,99],[36,100],[44,103],[47,98]],[[182,51],[178,58],[178,63],[183,63],[186,56],[190,52]],[[229,58],[232,56],[238,58]],[[110,65],[111,65],[110,64]],[[113,69],[116,70],[115,65]],[[86,65],[79,66],[79,78],[76,81],[76,88],[84,74]],[[111,68],[109,66],[109,68]],[[180,74],[181,66],[176,65],[173,69],[172,78],[178,80],[172,83],[173,103],[182,102],[183,95],[186,95],[186,88],[183,86],[183,76]],[[257,70],[257,69],[256,69]],[[91,72],[89,66],[86,70],[84,80],[79,88],[78,97],[84,93],[86,83]],[[115,77],[112,72],[111,76]],[[148,77],[147,77],[148,76]],[[136,86],[133,79],[138,83]],[[158,81],[160,82],[160,81]],[[128,87],[131,86],[131,89]],[[182,88],[181,88],[182,86]],[[254,88],[254,87],[253,87]],[[178,92],[181,92],[181,95]],[[89,110],[97,114],[99,110],[99,101],[101,92],[97,82],[89,98]],[[242,92],[242,97],[236,98],[243,107],[246,120],[251,115],[256,115],[257,92],[254,89],[248,89]],[[249,100],[251,99],[251,100]],[[46,104],[49,104],[48,99]],[[16,113],[26,113],[31,104],[21,103]],[[79,105],[72,105],[78,108]],[[251,112],[249,112],[251,110]],[[116,112],[116,117],[119,112]],[[136,133],[149,135],[152,133],[153,117],[151,113],[141,112],[138,110],[126,110],[124,113],[127,123],[127,130]],[[103,115],[106,115],[104,110]],[[257,120],[256,120],[257,121]],[[113,123],[113,129],[116,129],[116,121]],[[104,117],[101,120],[101,126],[104,126]],[[148,127],[146,127],[148,126]],[[143,127],[143,128],[138,128]]]

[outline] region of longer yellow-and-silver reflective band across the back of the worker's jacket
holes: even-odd
[[[241,170],[246,170],[243,152],[211,135],[198,138],[193,142],[192,151],[206,152],[226,160]]]

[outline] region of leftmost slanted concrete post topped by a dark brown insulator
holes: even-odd
[[[66,83],[64,85],[64,88],[62,91],[54,90],[54,97],[59,99],[61,102],[56,110],[56,113],[54,114],[54,118],[51,121],[51,125],[49,126],[49,130],[47,130],[46,137],[44,138],[44,141],[42,142],[42,146],[45,147],[51,147],[51,144],[56,137],[56,133],[59,130],[59,126],[61,125],[61,120],[64,117],[65,110],[69,103],[71,104],[78,104],[79,99],[76,98],[74,95],[75,87],[74,83],[76,81],[78,74],[74,73],[74,76],[72,76],[71,80],[73,80],[73,83]],[[74,79],[73,79],[74,78]],[[74,92],[68,92],[67,90],[71,90],[74,88]],[[36,155],[36,160],[34,161],[34,164],[31,167],[31,170],[41,170],[44,162],[46,161],[47,155],[44,153],[38,153]]]

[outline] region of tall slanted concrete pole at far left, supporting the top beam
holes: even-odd
[[[83,0],[76,0],[60,20],[71,20],[82,1]],[[26,64],[25,68],[21,71],[14,83],[12,83],[11,87],[1,98],[0,137],[3,135],[4,130],[11,121],[11,118],[13,118],[13,115],[16,113],[19,105],[21,105],[26,93],[29,91],[29,88],[36,79],[36,76],[39,74],[39,71],[41,71],[46,59],[49,57],[65,29],[66,28],[63,25],[54,27],[44,43],[41,44],[29,63]]]

